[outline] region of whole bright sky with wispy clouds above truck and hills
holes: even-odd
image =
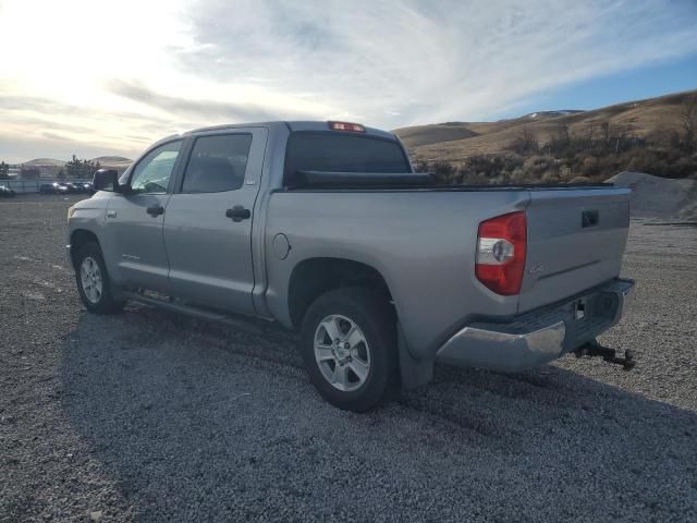
[[[592,109],[697,88],[696,27],[697,0],[0,0],[0,159]]]

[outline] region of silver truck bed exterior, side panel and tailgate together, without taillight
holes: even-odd
[[[628,194],[607,184],[277,190],[266,244],[271,251],[284,234],[292,263],[267,257],[268,304],[283,316],[285,266],[318,253],[351,259],[382,275],[409,351],[430,357],[443,332],[477,317],[512,317],[616,277]],[[598,211],[597,224],[582,227],[586,210]],[[527,262],[519,295],[503,296],[475,276],[477,231],[481,221],[514,211],[528,217]]]

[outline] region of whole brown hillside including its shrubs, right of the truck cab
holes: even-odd
[[[442,183],[508,184],[595,183],[621,171],[697,179],[695,130],[697,90],[589,111],[538,111],[395,133],[416,168]]]

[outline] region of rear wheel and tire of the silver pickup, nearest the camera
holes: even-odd
[[[339,409],[366,412],[396,387],[394,313],[368,289],[329,291],[308,308],[301,353],[310,381]]]

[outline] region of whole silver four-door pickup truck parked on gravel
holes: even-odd
[[[200,129],[94,184],[69,210],[89,312],[277,320],[342,409],[426,384],[436,362],[621,360],[595,338],[634,284],[624,188],[438,185],[393,134],[345,122]]]

